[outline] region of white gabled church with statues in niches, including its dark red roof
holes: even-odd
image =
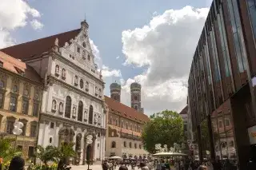
[[[84,21],[78,30],[2,49],[44,78],[38,144],[74,142],[78,158],[73,164],[85,164],[88,156],[102,160],[105,155],[104,82],[94,63],[88,29]],[[88,135],[93,136],[92,144],[86,143]]]

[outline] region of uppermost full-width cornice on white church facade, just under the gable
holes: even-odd
[[[105,82],[97,77],[94,77],[92,73],[89,73],[85,69],[82,69],[78,65],[75,65],[73,62],[70,62],[68,59],[63,57],[60,53],[56,53],[55,51],[52,51],[50,54],[53,60],[57,58],[59,61],[62,61],[64,64],[69,65],[71,68],[76,69],[78,72],[81,72],[87,77],[90,77],[91,79],[93,79],[94,81],[97,81],[99,84],[103,86],[103,89],[104,89]]]

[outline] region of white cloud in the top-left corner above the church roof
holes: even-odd
[[[30,18],[29,18],[30,16]],[[1,0],[0,6],[0,48],[14,44],[10,30],[26,26],[32,18],[41,14],[25,0]]]

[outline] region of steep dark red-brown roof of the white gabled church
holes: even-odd
[[[80,32],[80,29],[70,30],[62,34],[52,35],[46,38],[40,38],[32,42],[25,42],[18,45],[13,45],[5,49],[0,49],[2,52],[9,54],[12,57],[26,59],[41,55],[49,51],[54,45],[55,39],[58,38],[58,45],[64,46],[70,39],[75,38]]]

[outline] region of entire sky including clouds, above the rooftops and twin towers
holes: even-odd
[[[80,28],[106,82],[142,85],[147,115],[186,106],[190,63],[211,0],[0,0],[0,48]]]

